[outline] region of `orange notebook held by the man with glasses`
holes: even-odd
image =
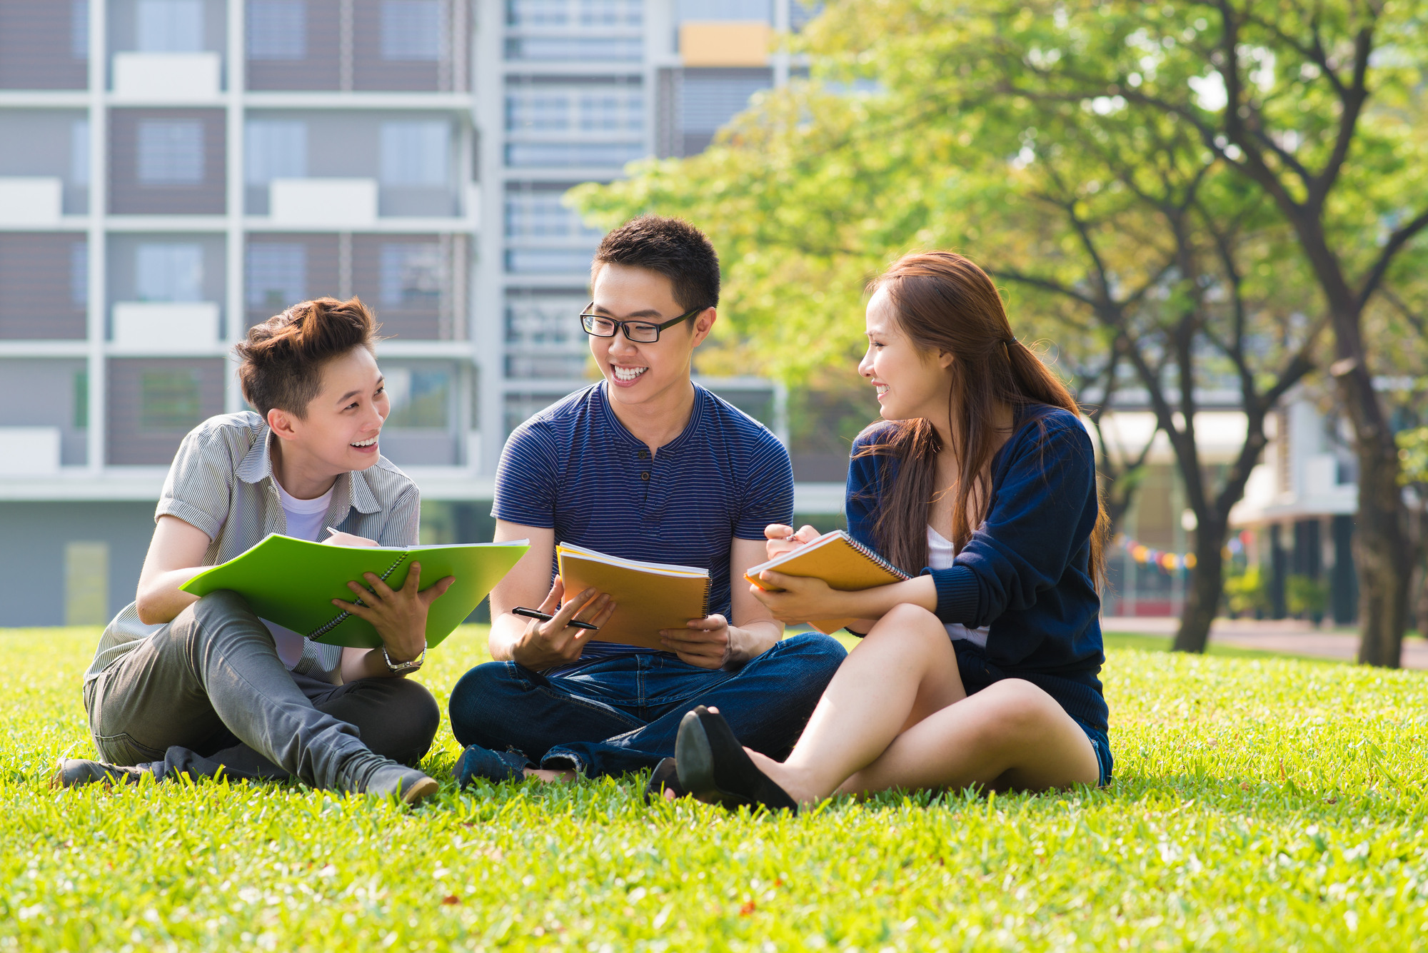
[[[683,629],[710,612],[708,569],[621,559],[564,542],[555,546],[555,559],[567,595],[594,586],[615,601],[614,615],[590,633],[591,641],[667,652],[660,629]]]

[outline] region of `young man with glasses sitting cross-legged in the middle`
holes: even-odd
[[[793,516],[793,468],[768,429],[690,378],[718,284],[714,247],[688,223],[644,215],[600,244],[578,320],[604,379],[518,427],[501,454],[496,539],[531,548],[491,592],[496,661],[451,692],[463,785],[654,768],[651,789],[674,796],[690,708],[738,712],[738,736],[778,758],[838,669],[838,642],[783,638],[741,579],[765,559],[764,528]],[[564,591],[557,542],[704,566],[713,615],[661,632],[667,652],[600,641],[571,622],[604,625],[614,606]],[[554,618],[511,612],[536,605]]]

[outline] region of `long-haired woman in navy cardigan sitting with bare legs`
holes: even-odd
[[[783,763],[720,713],[684,716],[680,786],[728,807],[980,785],[1044,790],[1111,776],[1097,678],[1105,514],[1067,388],[1017,341],[987,274],[910,254],[871,285],[860,374],[883,421],[853,445],[848,532],[911,575],[861,592],[764,572],[775,618],[858,619]],[[768,555],[817,531],[770,526]]]

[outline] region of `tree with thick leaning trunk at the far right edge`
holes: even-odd
[[[1037,3],[987,19],[995,27],[961,47],[984,96],[1048,107],[1114,100],[1182,124],[1292,230],[1355,434],[1359,661],[1398,665],[1412,554],[1365,325],[1385,285],[1417,281],[1424,264],[1428,158],[1414,123],[1428,56],[1422,6]]]

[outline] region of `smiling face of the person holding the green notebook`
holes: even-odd
[[[297,465],[311,478],[337,476],[377,462],[377,434],[390,412],[377,358],[358,347],[323,365],[323,388],[306,415],[273,408],[268,425],[283,439],[284,471]]]

